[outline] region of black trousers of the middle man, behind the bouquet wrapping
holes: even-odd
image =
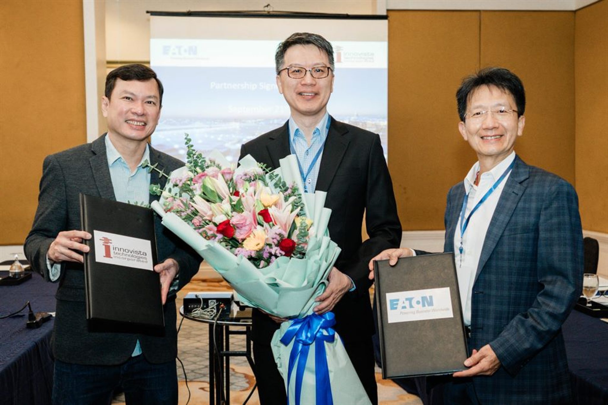
[[[372,405],[378,404],[378,386],[376,385],[373,345],[370,339],[365,341],[344,342],[344,347],[353,363],[361,383],[370,398]],[[254,342],[255,379],[258,384],[260,405],[285,405],[285,381],[277,369],[270,345]],[[337,387],[347,390],[348,387]]]

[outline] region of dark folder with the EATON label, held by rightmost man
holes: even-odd
[[[465,370],[468,355],[454,254],[402,257],[394,267],[379,260],[374,276],[382,378]]]

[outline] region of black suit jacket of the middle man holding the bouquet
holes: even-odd
[[[289,121],[244,144],[241,158],[247,154],[271,169],[277,168],[278,160],[290,154]],[[331,118],[316,189],[327,192],[325,206],[332,209],[330,237],[342,248],[335,266],[356,286],[334,307],[335,329],[344,341],[369,339],[375,325],[367,264],[371,257],[401,242],[401,223],[380,137]],[[364,212],[370,238],[362,242]],[[270,344],[277,328],[268,316],[254,313],[254,341]]]

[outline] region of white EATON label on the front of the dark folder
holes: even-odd
[[[389,324],[454,318],[450,289],[444,287],[387,293],[386,313]]]

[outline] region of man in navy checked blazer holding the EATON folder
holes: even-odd
[[[471,356],[443,385],[443,403],[570,404],[561,325],[582,288],[578,197],[515,154],[525,92],[514,73],[483,69],[463,81],[457,101],[458,129],[478,162],[447,194],[444,251],[454,251]],[[412,254],[424,252],[375,259]]]

